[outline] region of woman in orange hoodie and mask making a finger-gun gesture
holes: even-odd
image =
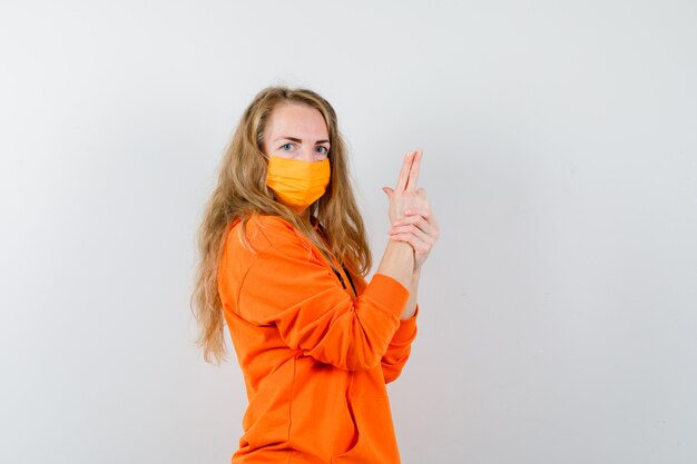
[[[223,159],[199,230],[194,298],[206,361],[230,333],[248,408],[233,463],[399,463],[385,384],[416,335],[421,266],[439,236],[421,151],[389,197],[376,274],[334,109],[262,90]]]

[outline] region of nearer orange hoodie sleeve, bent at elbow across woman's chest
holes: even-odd
[[[326,260],[289,224],[266,218],[238,289],[242,317],[275,325],[294,349],[345,371],[376,366],[400,329],[409,290],[375,274],[355,299],[342,288]]]

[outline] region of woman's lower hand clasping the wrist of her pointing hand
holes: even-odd
[[[425,191],[420,188],[416,192],[423,198],[421,205],[406,209],[405,216],[396,219],[390,230],[391,239],[405,241],[414,249],[414,270],[421,269],[441,233],[431,207],[425,200]]]

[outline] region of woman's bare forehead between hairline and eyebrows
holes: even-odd
[[[307,105],[279,103],[274,107],[266,126],[266,138],[296,137],[312,141],[328,138],[322,113]]]

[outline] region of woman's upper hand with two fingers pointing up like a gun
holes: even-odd
[[[382,188],[390,199],[390,207],[387,209],[390,224],[394,224],[397,219],[404,218],[404,210],[406,209],[421,210],[428,207],[425,195],[416,188],[422,156],[423,152],[420,149],[409,151],[404,155],[396,187],[394,189],[390,187]]]

